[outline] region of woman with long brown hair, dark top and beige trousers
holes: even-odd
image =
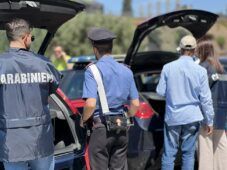
[[[207,70],[209,84],[212,92],[215,111],[214,130],[212,134],[207,132],[205,125],[201,126],[198,139],[199,170],[226,170],[227,168],[227,137],[226,114],[227,106],[220,103],[225,100],[227,82],[215,81],[212,75],[224,74],[224,68],[215,55],[214,45],[209,39],[198,41],[196,56],[200,59],[200,65]],[[222,93],[222,95],[220,95]],[[220,97],[221,96],[221,97]]]

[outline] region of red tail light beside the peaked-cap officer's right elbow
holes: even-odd
[[[136,112],[136,117],[140,119],[149,119],[153,117],[155,114],[155,111],[147,102],[140,102],[139,110]]]

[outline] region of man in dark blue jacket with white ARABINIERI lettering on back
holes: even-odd
[[[48,96],[60,74],[29,51],[32,28],[23,19],[5,26],[10,48],[0,55],[0,161],[6,170],[54,170]]]

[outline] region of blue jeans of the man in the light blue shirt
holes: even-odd
[[[164,153],[162,170],[173,170],[178,149],[182,152],[182,170],[194,170],[195,149],[200,123],[164,125]]]

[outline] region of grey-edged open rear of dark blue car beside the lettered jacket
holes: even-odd
[[[83,169],[84,150],[78,139],[72,111],[58,94],[50,96],[49,107],[54,128],[55,169]]]

